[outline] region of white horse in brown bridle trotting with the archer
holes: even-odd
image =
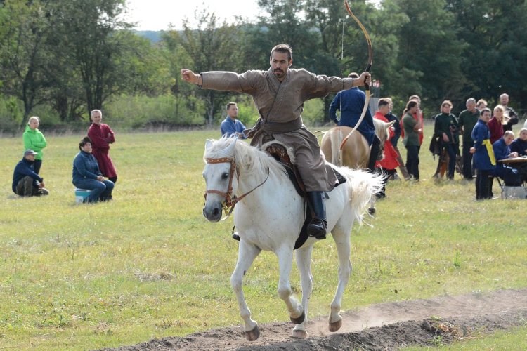
[[[297,324],[292,336],[306,338],[306,316],[313,291],[311,252],[317,239],[309,237],[297,249],[301,305],[292,297],[289,284],[294,245],[306,213],[304,199],[295,191],[278,161],[235,138],[207,140],[204,159],[207,162],[203,171],[207,191],[203,216],[210,222],[218,222],[222,209],[238,203],[234,223],[240,235],[240,246],[230,284],[238,300],[245,336],[249,341],[256,340],[260,331],[245,303],[242,281],[256,256],[266,250],[278,257],[278,296],[284,300],[291,321]],[[339,284],[331,303],[330,331],[337,331],[342,325],[341,298],[352,270],[349,259],[351,226],[354,220],[362,222],[368,202],[382,188],[382,179],[378,176],[346,167],[335,168],[346,177],[346,183],[329,192],[326,200],[327,232],[331,232],[339,254]]]

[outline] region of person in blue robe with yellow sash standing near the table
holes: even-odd
[[[477,169],[476,200],[489,198],[488,175],[496,166],[493,147],[490,144],[490,131],[487,128],[488,121],[490,121],[490,109],[484,108],[479,112],[478,122],[472,130],[474,147],[470,152],[474,154],[474,166]]]

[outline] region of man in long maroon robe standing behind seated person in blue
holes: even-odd
[[[91,112],[91,124],[88,129],[88,136],[91,139],[91,153],[97,159],[100,173],[111,180],[113,183],[117,182],[117,172],[113,165],[112,159],[108,155],[110,151],[110,144],[115,142],[115,135],[108,126],[108,124],[100,123],[103,120],[103,113],[100,110],[93,110]]]

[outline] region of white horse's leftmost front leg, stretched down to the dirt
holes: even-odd
[[[238,249],[238,263],[230,277],[230,285],[233,287],[234,293],[236,294],[236,300],[238,300],[238,307],[240,307],[240,317],[243,319],[243,330],[245,331],[245,337],[249,341],[254,341],[260,336],[260,330],[258,329],[258,323],[251,319],[251,311],[245,303],[245,297],[243,296],[243,277],[251,267],[256,256],[259,255],[260,249],[247,244],[245,241],[240,241]]]

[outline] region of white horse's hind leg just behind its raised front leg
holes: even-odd
[[[313,292],[313,275],[311,274],[311,253],[313,252],[313,245],[307,246],[297,250],[297,267],[300,271],[300,282],[302,286],[302,307],[304,307],[304,314],[306,319],[301,324],[293,329],[293,338],[304,339],[307,338],[306,324],[309,307],[309,298]]]

